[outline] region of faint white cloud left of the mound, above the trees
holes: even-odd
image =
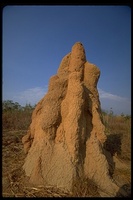
[[[25,106],[25,104],[35,105],[43,98],[47,92],[47,86],[44,88],[35,87],[24,90],[13,97],[13,101],[17,101],[19,104]]]

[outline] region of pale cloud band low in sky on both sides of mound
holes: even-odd
[[[45,86],[44,88],[41,87],[35,87],[35,88],[29,88],[27,90],[24,90],[22,92],[19,92],[15,96],[11,95],[14,102],[18,102],[20,105],[25,106],[27,104],[35,105],[37,104],[46,94],[48,86]],[[101,102],[101,107],[103,110],[110,110],[110,108],[113,109],[113,112],[116,114],[121,114],[122,112],[125,114],[131,113],[131,100],[125,97],[121,97],[115,94],[111,94],[109,92],[106,92],[100,88],[98,88],[99,92],[99,98]],[[4,98],[5,99],[5,98]]]

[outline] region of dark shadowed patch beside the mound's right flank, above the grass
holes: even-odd
[[[117,153],[117,155],[121,155],[121,134],[110,134],[107,136],[107,140],[104,143],[104,149],[109,151],[112,156]]]

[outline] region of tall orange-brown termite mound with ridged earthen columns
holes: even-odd
[[[99,76],[99,68],[86,60],[83,45],[75,43],[50,78],[48,92],[37,104],[22,139],[27,153],[23,169],[31,183],[71,191],[76,180],[88,177],[101,196],[118,193],[103,149]]]

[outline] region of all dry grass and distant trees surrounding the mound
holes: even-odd
[[[4,197],[98,197],[97,186],[90,180],[75,183],[73,193],[63,193],[57,188],[33,187],[27,185],[22,171],[25,154],[22,137],[31,123],[35,106],[24,107],[11,100],[2,103],[2,193]],[[112,156],[117,155],[127,163],[131,160],[131,116],[123,113],[114,115],[112,109],[102,111],[107,141],[104,144]],[[116,169],[113,177],[127,180],[130,185],[129,169]],[[130,186],[129,186],[130,188]]]

